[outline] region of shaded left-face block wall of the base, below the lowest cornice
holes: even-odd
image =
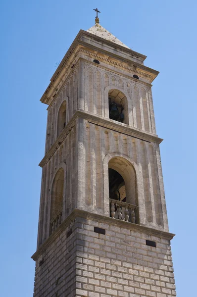
[[[76,235],[67,238],[72,226],[70,224],[36,261],[34,297],[76,296]]]

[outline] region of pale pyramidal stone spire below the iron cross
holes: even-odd
[[[129,49],[129,47],[127,47],[125,44],[123,44],[119,39],[117,39],[113,34],[111,34],[105,28],[100,26],[100,24],[94,25],[93,27],[88,29],[87,32],[97,35],[101,38],[104,38],[105,40],[111,41],[119,46]]]

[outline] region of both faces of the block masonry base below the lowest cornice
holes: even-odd
[[[119,222],[76,218],[38,258],[34,297],[176,296],[170,241]]]

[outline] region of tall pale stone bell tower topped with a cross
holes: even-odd
[[[99,24],[80,30],[48,105],[34,297],[176,296],[151,83]]]

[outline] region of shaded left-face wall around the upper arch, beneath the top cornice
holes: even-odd
[[[54,102],[51,103],[51,105],[49,105],[46,152],[49,150],[49,148],[52,146],[57,138],[57,117],[59,108],[63,101],[66,101],[65,124],[67,125],[73,114],[78,109],[78,65],[75,66],[73,73],[66,78],[57,98],[54,100]]]

